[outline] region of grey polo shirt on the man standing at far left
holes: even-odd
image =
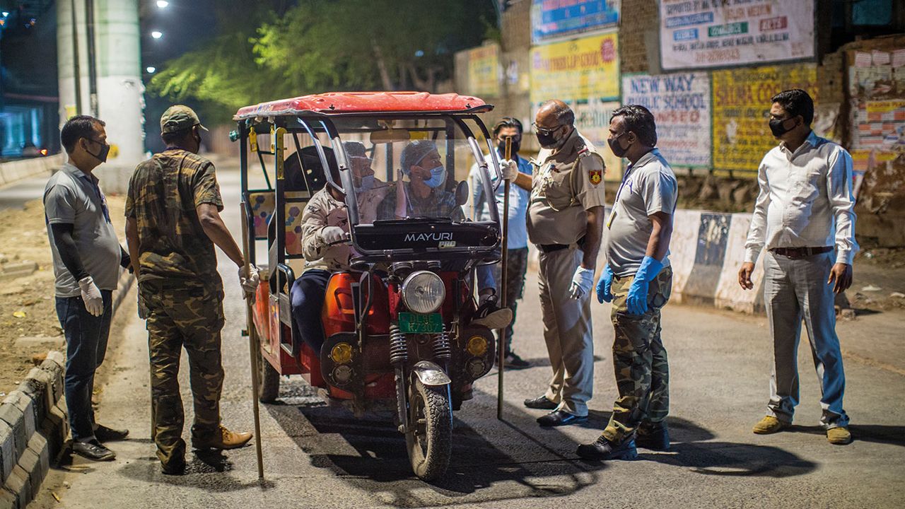
[[[107,198],[98,178],[86,175],[68,162],[54,173],[44,187],[44,219],[51,242],[53,274],[57,297],[81,295],[79,282],[62,264],[53,242],[51,225],[71,224],[72,238],[81,264],[101,290],[115,290],[119,277],[119,239],[110,223]]]

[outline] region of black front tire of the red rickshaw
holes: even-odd
[[[427,451],[424,454],[414,437],[414,431],[405,437],[409,460],[414,474],[424,481],[433,481],[446,473],[452,456],[452,408],[449,386],[424,385],[413,377],[413,392],[424,401],[424,418],[427,429]]]

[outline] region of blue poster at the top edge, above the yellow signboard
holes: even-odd
[[[531,42],[615,26],[619,4],[620,0],[533,0]]]

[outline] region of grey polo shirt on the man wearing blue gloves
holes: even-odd
[[[625,168],[613,211],[606,219],[606,259],[613,274],[623,277],[638,272],[653,231],[650,216],[675,213],[677,188],[675,174],[658,149]],[[669,251],[662,264],[670,265]]]

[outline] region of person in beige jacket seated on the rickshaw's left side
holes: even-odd
[[[358,200],[362,223],[373,223],[377,204],[386,197],[389,188],[374,178],[371,159],[365,146],[357,141],[345,141],[352,181]],[[333,162],[333,161],[329,161]],[[339,183],[339,171],[329,165],[333,181]],[[290,291],[293,338],[305,341],[311,350],[320,351],[324,342],[320,311],[330,274],[348,271],[352,248],[348,240],[346,197],[336,187],[326,186],[311,197],[301,215],[301,250],[305,268],[292,284]]]

